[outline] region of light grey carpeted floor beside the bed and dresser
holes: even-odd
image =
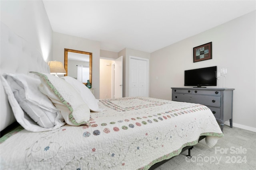
[[[226,125],[223,133],[214,147],[203,139],[191,150],[191,159],[186,150],[155,170],[255,170],[256,133]]]

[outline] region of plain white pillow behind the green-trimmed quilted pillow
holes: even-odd
[[[83,98],[84,102],[89,106],[91,111],[100,112],[104,110],[99,108],[98,100],[96,100],[90,89],[86,87],[82,82],[70,76],[64,76],[62,78],[66,80],[66,82],[68,82],[71,86],[73,86],[74,89],[77,90],[77,92]]]

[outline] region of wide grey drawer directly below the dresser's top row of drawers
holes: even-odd
[[[172,100],[220,107],[220,96],[204,96],[204,95],[176,93],[176,94],[173,94]]]

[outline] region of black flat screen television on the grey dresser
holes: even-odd
[[[217,86],[216,78],[217,66],[185,70],[185,86]]]

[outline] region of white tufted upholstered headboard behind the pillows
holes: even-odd
[[[12,32],[1,22],[1,53],[0,53],[0,74],[2,73],[23,73],[30,76],[30,71],[50,72],[48,64],[43,60],[42,54],[28,41]],[[0,83],[0,130],[15,121],[12,108],[2,83]]]

